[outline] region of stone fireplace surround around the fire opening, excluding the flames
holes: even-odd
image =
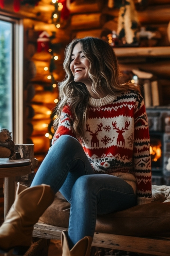
[[[161,166],[152,166],[152,184],[170,186],[170,106],[156,106],[146,109],[150,140],[158,138],[162,144]]]

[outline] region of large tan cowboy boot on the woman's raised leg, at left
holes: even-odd
[[[50,186],[17,186],[15,201],[0,227],[0,252],[24,255],[31,245],[34,224],[54,200]]]

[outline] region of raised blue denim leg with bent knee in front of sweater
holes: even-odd
[[[70,201],[71,189],[78,177],[94,173],[91,164],[78,140],[63,135],[51,146],[41,163],[31,187],[47,184],[54,193],[61,193]]]

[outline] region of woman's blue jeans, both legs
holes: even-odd
[[[94,236],[97,214],[124,210],[136,204],[133,188],[123,179],[95,174],[78,140],[63,135],[51,146],[31,186],[50,185],[71,204],[69,246]]]

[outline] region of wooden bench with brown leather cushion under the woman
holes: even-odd
[[[54,202],[35,224],[33,237],[61,240],[62,231],[68,228],[69,213],[69,202],[58,192]],[[170,202],[159,200],[98,215],[92,246],[170,256]]]

